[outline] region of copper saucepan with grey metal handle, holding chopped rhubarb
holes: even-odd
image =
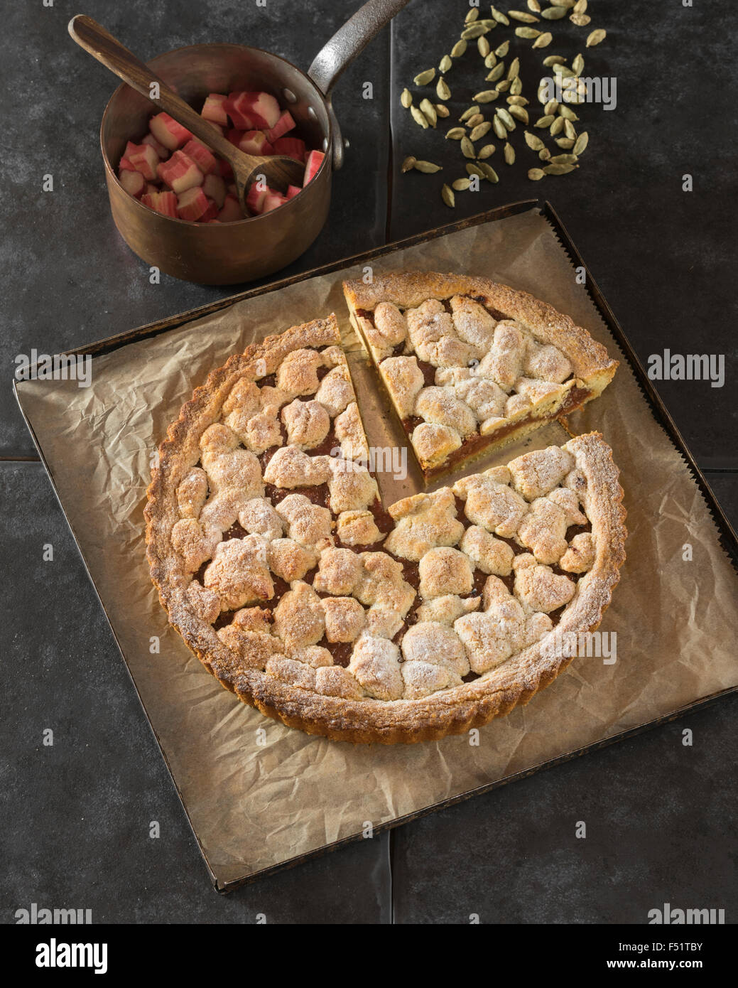
[[[321,48],[307,74],[279,55],[242,44],[193,44],[147,63],[195,107],[208,93],[272,93],[289,110],[307,145],[326,151],[320,170],[302,192],[264,215],[194,223],[161,215],[129,196],[118,181],[118,164],[126,141],[146,130],[152,105],[129,86],[119,86],[103,115],[100,144],[113,219],[130,249],[166,274],[202,285],[263,278],[307,250],[328,216],[331,175],[344,161],[346,142],[331,105],[333,86],[407,2],[369,0]]]

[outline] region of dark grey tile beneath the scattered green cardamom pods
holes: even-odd
[[[525,9],[525,4],[518,7]],[[392,237],[505,203],[548,199],[642,362],[664,348],[725,356],[722,388],[704,381],[662,381],[658,388],[700,465],[738,466],[733,330],[738,120],[733,109],[736,63],[729,54],[738,10],[719,5],[718,14],[714,4],[660,3],[638,6],[633,18],[624,15],[617,0],[592,0],[588,27],[576,28],[566,19],[548,22],[553,41],[537,51],[531,41],[515,38],[514,24],[492,31],[487,37],[493,48],[511,39],[507,64],[513,48],[521,52],[523,95],[531,100],[532,122],[541,110],[535,92],[541,70],[547,71],[542,58],[549,53],[572,58],[581,51],[585,75],[615,76],[617,104],[613,111],[592,104],[575,108],[581,118],[577,125],[590,134],[581,167],[541,182],[527,177],[540,162],[524,142],[526,127],[518,124],[512,134],[518,156],[514,166],[503,162],[502,141],[490,131],[479,145],[496,145],[489,161],[499,184],[485,182],[477,194],[456,194],[456,207],[450,209],[440,190],[444,182],[465,175],[465,162],[458,143],[444,140],[443,133],[458,125],[471,96],[490,85],[484,82],[476,42],[469,42],[448,73],[451,117],[437,131],[415,124],[400,107],[399,93],[407,85],[416,105],[424,95],[437,102],[435,83],[421,90],[412,80],[421,70],[437,67],[451,49],[466,9],[461,0],[416,0],[392,25]],[[542,24],[534,27],[546,30]],[[606,28],[608,38],[587,49],[586,38],[595,27]],[[691,81],[690,63],[699,67],[698,85]],[[488,119],[500,105],[505,105],[502,100],[486,105]],[[407,154],[444,170],[402,175],[400,163]],[[692,193],[682,191],[687,173],[694,179]]]

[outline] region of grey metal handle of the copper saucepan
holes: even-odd
[[[331,105],[331,90],[346,66],[364,50],[409,0],[368,0],[346,24],[339,28],[312,60],[307,74],[322,91],[333,124],[333,168],[344,163],[344,140]]]

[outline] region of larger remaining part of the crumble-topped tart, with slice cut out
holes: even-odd
[[[212,371],[145,509],[171,624],[239,700],[311,734],[415,742],[526,703],[592,630],[624,560],[597,433],[385,512],[334,316]]]

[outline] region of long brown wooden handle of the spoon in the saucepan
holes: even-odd
[[[222,135],[217,127],[206,121],[200,114],[177,96],[177,94],[159,78],[156,73],[145,65],[139,58],[128,51],[128,49],[118,39],[114,38],[97,21],[93,21],[86,14],[77,14],[69,22],[69,34],[74,41],[89,51],[106,68],[123,79],[132,89],[147,97],[151,102],[173,117],[178,124],[186,126],[188,130],[199,137],[208,147],[225,158],[231,166],[235,164],[248,165],[250,168],[258,166],[259,159],[252,158],[252,155],[243,151],[236,151],[229,140]],[[153,84],[153,85],[152,85]],[[156,93],[158,87],[158,96]]]

